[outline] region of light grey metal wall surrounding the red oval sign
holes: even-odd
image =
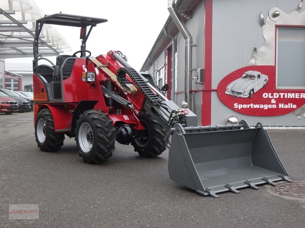
[[[213,53],[212,88],[232,71],[245,67],[249,62],[254,45],[259,49],[264,44],[260,27],[260,12],[265,19],[273,7],[286,13],[296,9],[300,0],[214,0],[213,1]],[[303,7],[301,12],[304,11]],[[212,92],[211,123],[225,123],[228,116],[246,119],[251,125],[261,122],[269,126],[305,126],[305,119],[292,114],[277,117],[254,117],[239,114],[229,109]]]

